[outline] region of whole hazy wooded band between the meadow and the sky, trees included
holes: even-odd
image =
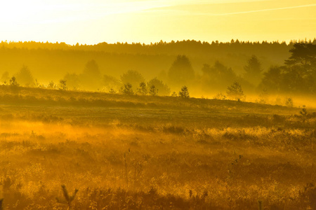
[[[69,90],[133,92],[144,84],[170,95],[183,85],[193,96],[211,96],[238,83],[250,93],[316,93],[314,41],[232,40],[166,43],[0,43],[1,84]],[[140,83],[143,83],[140,85]],[[156,90],[154,90],[156,91]]]

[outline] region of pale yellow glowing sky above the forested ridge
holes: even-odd
[[[96,44],[315,37],[315,0],[1,1],[0,41]]]

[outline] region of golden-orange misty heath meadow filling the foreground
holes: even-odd
[[[1,85],[2,207],[316,209],[315,111]]]

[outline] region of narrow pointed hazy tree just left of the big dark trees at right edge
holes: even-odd
[[[261,73],[263,69],[261,68],[261,63],[259,62],[256,55],[252,55],[247,61],[246,66],[244,66],[244,78],[254,85],[258,85],[261,80]]]

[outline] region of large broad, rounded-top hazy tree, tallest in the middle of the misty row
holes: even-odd
[[[191,83],[195,78],[195,71],[190,60],[185,55],[178,55],[168,71],[170,83],[180,85]]]

